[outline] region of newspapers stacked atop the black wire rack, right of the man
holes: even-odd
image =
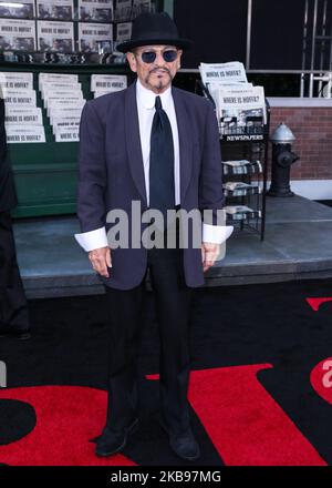
[[[242,63],[200,63],[199,71],[216,104],[221,133],[237,134],[245,126],[255,128],[267,123],[263,87],[248,83]]]

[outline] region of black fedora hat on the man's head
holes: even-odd
[[[117,51],[127,52],[138,45],[169,44],[188,49],[191,41],[178,35],[177,27],[166,12],[144,12],[133,21],[132,39],[117,45]]]

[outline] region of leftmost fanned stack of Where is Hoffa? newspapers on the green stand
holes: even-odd
[[[0,73],[0,98],[4,99],[7,142],[45,142],[42,112],[35,103],[32,73]]]

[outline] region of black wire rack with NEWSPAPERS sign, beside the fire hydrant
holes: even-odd
[[[201,80],[197,80],[197,84],[216,109],[208,88]],[[267,99],[264,102],[266,123],[262,116],[252,114],[247,116],[245,122],[241,120],[240,123],[235,116],[218,120],[222,157],[222,187],[226,196],[226,223],[235,226],[236,234],[240,231],[257,233],[261,241],[264,238],[266,227],[270,132],[270,105]],[[236,160],[236,156],[241,160]],[[241,164],[243,161],[246,163]],[[236,186],[235,183],[239,183],[239,185]],[[247,211],[240,211],[238,206],[246,206]]]

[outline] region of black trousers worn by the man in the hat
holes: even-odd
[[[162,417],[172,433],[180,434],[189,427],[187,390],[193,288],[185,283],[183,250],[178,247],[178,238],[177,248],[152,248],[147,253],[160,339]],[[106,293],[111,315],[107,425],[121,430],[137,415],[137,360],[145,278],[133,289],[106,287]]]

